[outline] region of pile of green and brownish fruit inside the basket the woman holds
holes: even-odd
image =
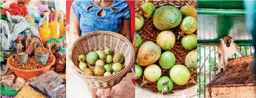
[[[112,57],[111,49],[92,51],[85,55],[79,55],[79,68],[84,73],[92,76],[109,76],[121,71],[124,57],[121,53],[115,53]],[[89,68],[88,66],[94,66]]]

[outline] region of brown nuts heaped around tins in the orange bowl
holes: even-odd
[[[44,68],[44,67],[50,65],[50,63],[52,63],[52,62],[53,62],[53,57],[51,55],[49,55],[48,61],[47,61],[46,65],[39,64],[39,63],[35,62],[34,56],[32,56],[32,57],[28,58],[28,62],[27,63],[23,63],[23,64],[19,64],[14,59],[11,59],[10,60],[10,65],[15,67],[15,68],[18,68],[18,69],[33,70],[33,69]]]

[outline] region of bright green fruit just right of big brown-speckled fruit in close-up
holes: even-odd
[[[159,66],[163,69],[170,69],[175,64],[175,56],[170,51],[165,51],[159,58]]]

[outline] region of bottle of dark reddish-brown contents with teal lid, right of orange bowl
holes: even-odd
[[[66,69],[66,48],[60,48],[57,53],[55,71],[57,73],[63,73],[65,69]]]

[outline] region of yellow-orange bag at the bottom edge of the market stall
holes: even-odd
[[[23,87],[20,92],[16,95],[15,98],[24,98],[24,97],[33,97],[33,98],[46,98],[43,94],[35,91],[29,86]]]

